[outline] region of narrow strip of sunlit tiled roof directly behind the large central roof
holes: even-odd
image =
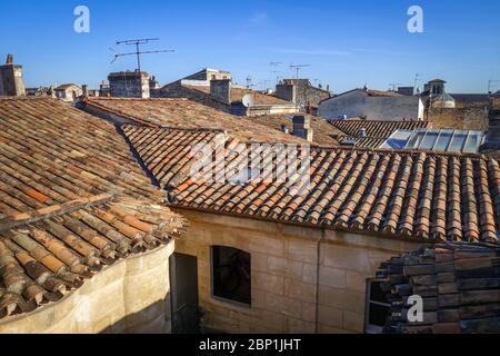
[[[109,99],[96,98],[88,106],[150,126],[227,130],[243,141],[304,142],[302,139],[236,117],[188,99]]]

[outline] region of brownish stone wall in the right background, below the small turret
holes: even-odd
[[[430,108],[428,120],[434,128],[488,130],[488,108]]]

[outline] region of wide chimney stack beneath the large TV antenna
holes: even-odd
[[[114,98],[149,98],[150,77],[144,71],[121,71],[110,73],[109,93]]]

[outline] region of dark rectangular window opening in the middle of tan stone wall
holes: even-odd
[[[250,254],[222,246],[212,247],[213,296],[251,304]]]

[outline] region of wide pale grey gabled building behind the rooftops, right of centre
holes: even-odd
[[[321,101],[319,116],[323,119],[347,117],[389,121],[423,120],[424,106],[418,96],[354,89]]]

